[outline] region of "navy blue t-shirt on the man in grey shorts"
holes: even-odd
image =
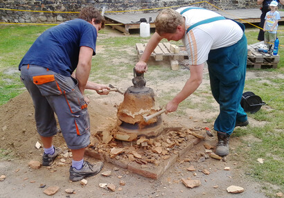
[[[30,47],[19,64],[35,64],[70,76],[78,65],[80,46],[96,55],[96,28],[83,19],[73,19],[49,28]]]

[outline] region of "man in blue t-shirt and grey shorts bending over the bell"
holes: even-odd
[[[84,161],[84,153],[90,143],[89,99],[85,89],[100,95],[109,93],[107,85],[88,81],[98,30],[104,26],[105,19],[96,8],[83,8],[79,19],[42,33],[19,64],[21,81],[33,99],[37,132],[44,145],[42,165],[51,165],[61,153],[52,143],[57,133],[55,113],[72,151],[72,181],[98,174],[103,168],[103,162]]]

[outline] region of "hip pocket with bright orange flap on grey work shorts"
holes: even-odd
[[[37,85],[42,96],[60,95],[62,91],[57,84],[54,75],[33,76],[33,83]]]

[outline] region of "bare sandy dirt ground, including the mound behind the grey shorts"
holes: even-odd
[[[207,69],[204,69],[204,73],[208,73]],[[131,74],[132,71],[130,71]],[[256,74],[248,72],[247,76],[255,78]],[[151,82],[147,86],[154,89],[154,93],[159,96],[159,93],[169,86],[181,89],[184,82],[185,79],[178,79],[175,82],[165,80],[159,82],[159,87]],[[208,80],[204,80],[199,89],[206,89],[208,84]],[[120,84],[116,84],[116,86],[126,90],[127,87],[132,86],[132,82],[121,80]],[[123,101],[123,96],[118,93],[98,96],[95,92],[89,92],[89,98],[91,99],[88,107],[91,133],[95,134],[109,126],[114,126],[116,105]],[[192,98],[192,100],[200,100],[195,96]],[[218,115],[218,105],[213,105],[217,109],[215,112],[190,109],[188,110],[190,117],[175,113],[163,115],[163,124],[171,127],[209,127],[212,129],[213,121],[206,123],[204,120]],[[7,155],[6,160],[0,161],[0,175],[6,176],[6,179],[0,181],[0,197],[3,198],[48,197],[44,194],[44,190],[49,186],[59,187],[58,192],[51,197],[265,197],[260,184],[249,177],[249,171],[242,165],[242,157],[235,152],[236,148],[242,145],[242,138],[251,138],[249,136],[231,138],[230,154],[225,161],[207,158],[204,153],[204,143],[211,145],[217,143],[216,134],[211,130],[215,135],[213,138],[207,136],[190,152],[184,154],[171,165],[157,180],[134,174],[112,163],[105,163],[102,172],[111,170],[110,176],[105,177],[97,174],[94,177],[88,177],[87,185],[82,186],[80,182],[69,181],[69,166],[71,165],[69,155],[60,156],[51,168],[41,167],[35,170],[28,167],[28,162],[31,160],[41,161],[43,149],[42,147],[35,148],[35,143],[37,141],[41,143],[41,141],[35,128],[33,104],[26,91],[2,105],[0,112],[0,147],[4,149],[2,154]],[[252,119],[249,121],[251,125],[264,124]],[[251,141],[258,140],[251,138]],[[55,136],[53,144],[61,147],[65,154],[69,151],[60,133]],[[16,157],[9,157],[11,154]],[[90,162],[98,161],[88,156],[86,159]],[[186,170],[190,165],[193,165],[195,171]],[[225,167],[230,167],[230,170],[224,170]],[[204,169],[208,170],[210,174],[204,174],[202,172]],[[181,182],[182,178],[200,180],[201,185],[196,188],[186,188]],[[125,181],[124,186],[120,184],[121,181]],[[100,183],[113,183],[116,190],[112,192],[106,188],[100,188]],[[44,186],[44,188],[40,188],[40,186]],[[239,194],[230,194],[227,192],[229,186],[240,186],[245,188],[245,191]],[[67,194],[65,192],[67,188],[73,189],[73,194]]]

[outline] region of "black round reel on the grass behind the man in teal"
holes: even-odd
[[[265,102],[261,100],[259,96],[256,96],[253,92],[247,91],[242,93],[242,100],[240,100],[240,106],[251,114],[256,113],[262,105],[265,105]]]

